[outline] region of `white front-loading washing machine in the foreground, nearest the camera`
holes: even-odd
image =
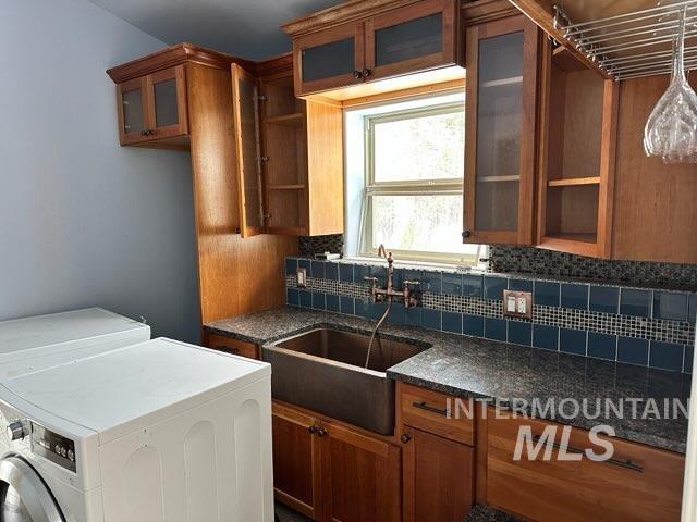
[[[70,355],[0,364],[0,520],[273,520],[269,364],[163,338]]]

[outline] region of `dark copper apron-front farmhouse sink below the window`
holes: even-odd
[[[272,366],[273,398],[381,435],[394,432],[394,381],[384,371],[430,346],[370,335],[317,328],[262,349]]]

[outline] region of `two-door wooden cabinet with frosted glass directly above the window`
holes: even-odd
[[[457,64],[457,5],[455,0],[353,0],[290,22],[283,28],[293,36],[295,94]]]

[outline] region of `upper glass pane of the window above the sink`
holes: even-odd
[[[377,121],[375,182],[462,178],[464,147],[462,111]]]

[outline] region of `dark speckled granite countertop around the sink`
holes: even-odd
[[[369,332],[375,321],[286,307],[216,321],[205,327],[236,339],[267,345],[321,325]],[[388,376],[398,381],[462,398],[494,399],[521,411],[530,411],[529,405],[534,399],[541,406],[552,400],[555,401],[557,414],[539,414],[538,409],[538,417],[582,428],[607,424],[614,428],[617,437],[685,452],[687,419],[684,415],[667,419],[664,400],[670,401],[671,411],[672,399],[680,399],[686,406],[689,375],[411,326],[386,324],[380,332],[386,337],[412,339],[431,346],[388,370]],[[573,415],[571,403],[560,411],[562,399],[568,398],[585,400],[591,414],[597,412],[597,401],[600,400],[600,417]],[[655,402],[649,402],[649,399]],[[615,408],[622,406],[624,415],[620,419],[612,409],[611,414],[606,415],[606,403]],[[638,411],[636,418],[628,414],[633,403]],[[643,415],[647,406],[653,403],[659,409],[660,419],[653,409],[648,411],[648,415]],[[560,417],[560,412],[565,415]]]

